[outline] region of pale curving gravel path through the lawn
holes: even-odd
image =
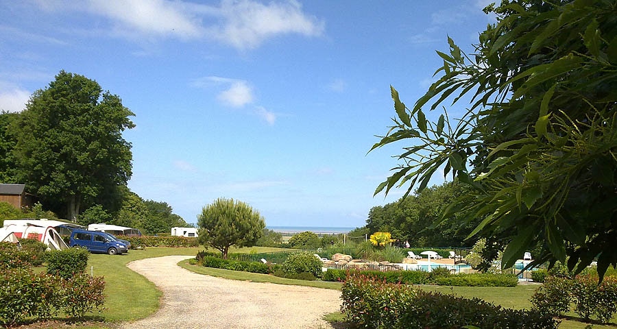
[[[163,292],[157,313],[132,328],[333,328],[322,317],[339,310],[332,289],[245,282],[204,276],[176,265],[191,256],[136,260],[128,267]]]

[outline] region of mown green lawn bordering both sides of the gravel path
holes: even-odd
[[[90,254],[88,260],[88,271],[92,271],[95,276],[104,276],[106,280],[106,310],[101,313],[101,318],[104,323],[90,322],[86,326],[71,326],[71,328],[80,329],[109,329],[114,327],[114,322],[132,321],[142,319],[152,315],[159,307],[160,291],[154,287],[154,284],[146,280],[143,276],[131,271],[126,267],[133,260],[143,258],[153,258],[160,256],[171,255],[190,255],[193,256],[203,248],[169,248],[169,247],[148,247],[145,250],[130,250],[128,254],[119,256],[109,256],[107,254]],[[252,247],[243,249],[234,249],[232,252],[274,252],[280,249]],[[272,282],[276,284],[297,284],[309,287],[318,287],[325,289],[341,289],[339,282],[322,282],[322,281],[302,281],[291,280],[285,278],[277,278],[265,274],[246,273],[238,271],[228,271],[225,269],[210,269],[190,265],[188,260],[180,262],[180,266],[210,276],[228,278],[232,280],[247,280],[253,282]],[[529,308],[529,298],[537,286],[535,285],[519,285],[513,288],[504,287],[441,287],[441,286],[418,286],[420,289],[431,291],[439,291],[441,293],[454,293],[463,297],[479,297],[488,302],[499,304],[507,308]],[[569,314],[576,317],[574,313]],[[342,319],[342,315],[328,315],[327,319],[336,321]],[[56,328],[57,324],[50,324],[47,328]],[[559,328],[565,329],[583,329],[586,324],[579,321],[564,320]],[[44,328],[36,326],[36,328]],[[339,327],[340,328],[340,327]],[[611,326],[594,325],[593,328],[609,329],[616,328],[615,319]]]

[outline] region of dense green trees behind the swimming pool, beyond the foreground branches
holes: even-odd
[[[375,206],[369,212],[366,225],[349,235],[390,232],[392,239],[401,245],[409,241],[414,247],[471,247],[475,241],[465,238],[479,221],[466,221],[457,214],[441,217],[445,207],[465,193],[465,188],[456,181],[446,182],[385,206]]]

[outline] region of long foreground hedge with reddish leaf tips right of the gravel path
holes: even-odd
[[[359,328],[557,328],[550,315],[501,308],[479,298],[466,299],[350,275],[342,288],[341,310]]]

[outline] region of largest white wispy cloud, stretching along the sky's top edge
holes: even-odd
[[[324,22],[306,14],[295,0],[264,4],[253,0],[223,0],[219,5],[169,0],[38,1],[47,12],[82,12],[102,21],[110,36],[130,40],[216,40],[245,50],[282,34],[321,36]],[[97,32],[101,31],[100,20]]]

